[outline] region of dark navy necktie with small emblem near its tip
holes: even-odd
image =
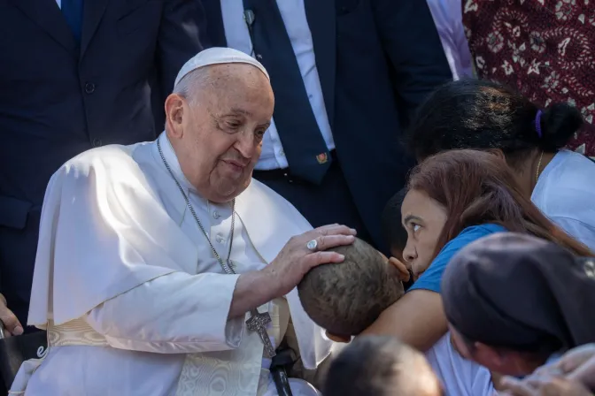
[[[326,1],[326,0],[320,0]],[[276,0],[243,0],[254,56],[267,68],[274,92],[274,124],[292,175],[320,184],[330,153],[316,123],[302,73]],[[250,19],[250,18],[247,18]]]

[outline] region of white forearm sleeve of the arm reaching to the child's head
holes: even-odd
[[[239,346],[244,316],[228,320],[239,275],[174,272],[104,301],[85,316],[110,346],[189,354]]]

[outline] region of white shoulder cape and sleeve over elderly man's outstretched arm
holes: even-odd
[[[126,148],[91,150],[46,191],[28,324],[85,317],[112,346],[141,351],[233,348],[237,277],[189,274],[198,259]]]

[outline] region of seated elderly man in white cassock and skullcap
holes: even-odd
[[[305,369],[328,357],[295,286],[341,263],[323,250],[355,230],[312,230],[251,179],[273,108],[259,62],[205,50],[175,80],[157,141],[92,149],[53,175],[28,316],[49,349],[22,365],[13,392],[276,395],[269,367],[283,339]]]

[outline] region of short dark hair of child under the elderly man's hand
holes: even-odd
[[[398,270],[363,240],[331,250],[344,255],[344,263],[308,271],[298,284],[299,299],[305,313],[329,333],[358,335],[403,295],[403,284]]]

